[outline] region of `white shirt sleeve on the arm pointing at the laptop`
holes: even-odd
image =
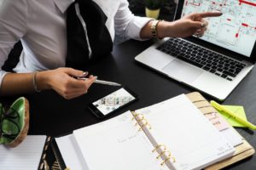
[[[149,20],[153,20],[147,17],[134,16],[128,5],[126,0],[121,0],[118,11],[114,15],[114,43],[124,42],[130,38],[143,40],[140,37],[140,31]]]

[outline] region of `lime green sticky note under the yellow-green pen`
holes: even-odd
[[[243,106],[240,106],[240,105],[222,105],[222,106],[224,106],[226,109],[228,109],[230,111],[233,111],[234,113],[236,113],[236,115],[241,116],[242,118],[247,120],[247,116],[243,109]],[[231,126],[246,127],[243,124],[241,124],[240,122],[237,122],[232,116],[224,113],[224,111],[218,111],[218,112],[220,113],[220,115],[224,116],[224,119],[227,120]]]

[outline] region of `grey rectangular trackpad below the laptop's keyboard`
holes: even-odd
[[[194,82],[203,72],[191,65],[186,65],[183,61],[177,59],[173,59],[162,69],[162,71],[178,81],[187,83]]]

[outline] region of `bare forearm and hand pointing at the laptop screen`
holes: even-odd
[[[157,25],[157,37],[189,37],[193,34],[197,36],[202,36],[204,31],[207,29],[206,17],[216,17],[220,16],[222,13],[219,12],[205,12],[198,14],[189,14],[184,16],[180,20],[173,22],[168,22],[161,20]],[[150,20],[147,25],[143,27],[140,32],[142,38],[153,37],[151,32],[153,20]]]

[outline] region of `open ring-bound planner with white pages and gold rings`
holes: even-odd
[[[254,153],[198,93],[126,111],[53,145],[61,166],[76,170],[219,169]]]

